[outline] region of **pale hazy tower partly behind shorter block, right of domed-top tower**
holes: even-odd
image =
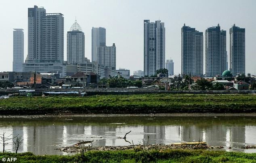
[[[106,29],[92,27],[92,62],[97,61],[97,48],[106,46]]]

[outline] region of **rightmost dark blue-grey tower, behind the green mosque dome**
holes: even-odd
[[[233,75],[246,73],[246,29],[235,24],[229,29],[230,71]]]

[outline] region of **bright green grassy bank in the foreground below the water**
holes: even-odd
[[[256,153],[236,153],[225,151],[206,150],[167,150],[167,151],[145,151],[143,153],[127,151],[89,151],[82,158],[80,154],[72,156],[45,155],[38,156],[32,153],[0,153],[2,158],[16,157],[17,163],[256,163]]]

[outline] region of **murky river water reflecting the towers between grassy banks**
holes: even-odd
[[[126,141],[118,139],[127,135]],[[95,146],[130,145],[142,142],[170,144],[206,141],[211,146],[233,147],[256,144],[256,117],[54,117],[2,118],[0,134],[23,136],[20,152],[35,154],[64,154],[54,150],[80,140],[94,140]],[[149,140],[148,140],[149,137]],[[11,142],[8,142],[11,143]],[[13,149],[8,146],[6,149]],[[0,146],[2,151],[2,145]],[[228,149],[227,149],[228,150]],[[245,150],[256,152],[256,150]]]

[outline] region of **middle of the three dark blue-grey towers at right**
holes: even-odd
[[[206,29],[205,69],[207,77],[221,75],[226,70],[226,31],[220,25]]]

